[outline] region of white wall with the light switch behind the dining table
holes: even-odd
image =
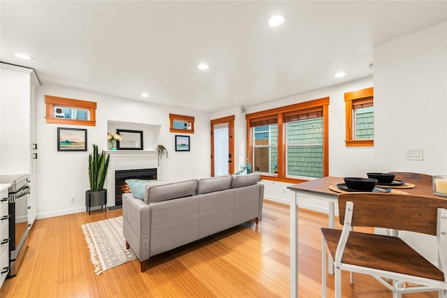
[[[446,22],[374,47],[376,170],[447,174],[446,53]]]

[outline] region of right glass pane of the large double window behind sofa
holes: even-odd
[[[323,118],[286,124],[287,175],[323,177]]]

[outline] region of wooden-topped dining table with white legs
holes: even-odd
[[[434,195],[432,181],[428,179],[428,175],[421,178],[415,174],[413,177],[406,177],[407,184],[413,184],[413,188],[392,188],[398,191],[408,193],[410,195],[425,195],[431,198],[446,198]],[[396,179],[398,179],[398,175]],[[332,191],[337,184],[343,184],[342,177],[323,177],[311,181],[293,184],[287,188],[295,192],[291,201],[290,211],[290,235],[291,235],[291,297],[298,297],[298,204],[303,199],[323,200],[328,202],[328,227],[334,228],[335,223],[335,203],[339,192]],[[333,267],[329,267],[329,273],[333,273]]]

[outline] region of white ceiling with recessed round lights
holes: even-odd
[[[0,13],[0,60],[42,84],[215,112],[370,76],[374,45],[446,21],[447,1],[1,1]],[[276,13],[285,22],[269,27]]]

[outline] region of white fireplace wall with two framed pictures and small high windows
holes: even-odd
[[[97,103],[96,126],[68,126],[47,124],[45,121],[44,96],[59,96]],[[195,117],[196,131],[191,137],[191,151],[175,151],[175,133],[169,130],[169,113],[186,114]],[[154,144],[145,144],[145,149],[153,150],[158,144],[168,149],[168,158],[161,161],[160,179],[187,179],[210,176],[210,119],[207,113],[188,110],[184,107],[153,105],[137,100],[126,100],[85,91],[43,85],[37,94],[37,142],[39,148],[39,184],[37,194],[38,218],[85,211],[85,191],[89,189],[88,156],[91,144],[98,144],[99,149],[107,149],[107,132],[109,121],[123,121],[154,124],[155,137],[145,138]],[[57,151],[57,128],[87,128],[88,151]],[[136,128],[138,126],[131,126]],[[145,126],[147,127],[147,126]],[[152,140],[152,141],[151,141]],[[154,141],[153,141],[154,140]],[[151,148],[152,147],[152,148]],[[70,199],[76,198],[75,204]]]

